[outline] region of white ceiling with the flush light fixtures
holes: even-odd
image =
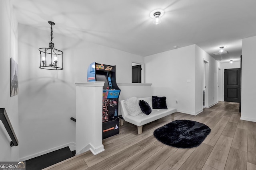
[[[221,63],[256,35],[256,0],[11,0],[18,23],[140,56],[196,44]],[[155,9],[162,22],[152,23]],[[50,35],[49,35],[50,40]],[[54,40],[53,40],[54,42]],[[228,54],[215,57],[219,47]]]

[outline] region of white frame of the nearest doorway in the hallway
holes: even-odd
[[[203,59],[203,89],[204,89],[204,85],[205,85],[205,89],[204,89],[204,104],[202,101],[202,105],[204,105],[204,107],[208,108],[209,107],[209,87],[208,87],[208,81],[209,81],[209,61],[207,61],[206,59]]]

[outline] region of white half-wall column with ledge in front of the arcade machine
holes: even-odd
[[[104,151],[102,145],[102,87],[104,82],[76,83],[76,155],[91,150]]]

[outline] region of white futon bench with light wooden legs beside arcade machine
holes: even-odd
[[[152,109],[152,97],[147,98],[138,98],[138,100],[144,100],[149,104],[149,106]],[[142,126],[150,123],[152,121],[155,121],[157,119],[160,119],[162,117],[165,117],[167,115],[172,114],[172,119],[174,119],[174,113],[177,111],[176,109],[172,107],[167,107],[168,109],[152,109],[152,112],[149,115],[146,115],[144,113],[140,113],[137,116],[131,116],[129,115],[128,111],[126,110],[124,100],[120,101],[120,111],[122,112],[123,119],[121,120],[121,126],[124,125],[124,120],[136,125],[138,127],[138,134],[142,134]]]

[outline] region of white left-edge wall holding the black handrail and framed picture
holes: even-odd
[[[0,1],[0,108],[5,108],[18,140],[18,95],[10,97],[10,57],[18,63],[17,21],[10,1]],[[19,80],[19,77],[18,77]],[[10,147],[10,137],[0,121],[0,161],[18,161],[19,146]]]

